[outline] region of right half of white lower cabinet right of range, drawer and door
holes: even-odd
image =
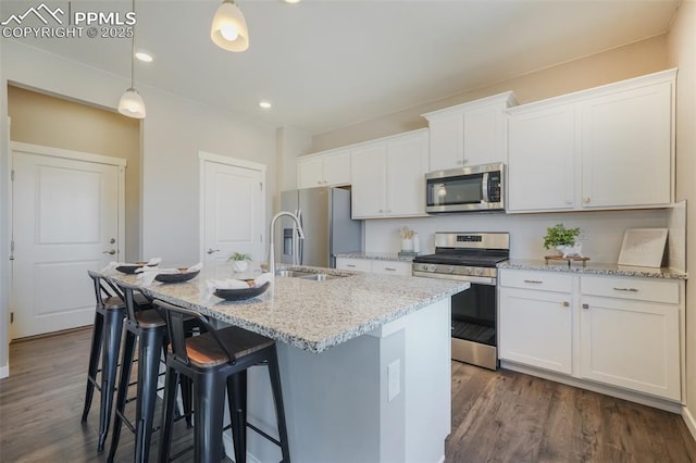
[[[581,376],[681,399],[680,286],[583,276]]]

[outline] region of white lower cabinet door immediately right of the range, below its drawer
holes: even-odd
[[[571,374],[571,295],[500,288],[499,296],[500,359]]]

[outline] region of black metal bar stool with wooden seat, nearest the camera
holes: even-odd
[[[275,341],[236,326],[215,329],[200,313],[160,300],[154,300],[154,305],[162,310],[172,342],[166,355],[166,385],[159,461],[170,461],[176,385],[183,375],[194,384],[194,460],[196,462],[220,462],[224,414],[222,404],[226,389],[235,463],[246,462],[247,427],[278,446],[283,462],[289,463],[290,451]],[[184,323],[189,317],[197,320],[208,333],[186,338]],[[247,423],[246,375],[250,366],[258,364],[268,364],[269,367],[279,439]]]

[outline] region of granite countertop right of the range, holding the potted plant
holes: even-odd
[[[611,276],[631,276],[642,278],[672,278],[686,279],[687,274],[672,268],[651,268],[629,265],[605,264],[586,262],[585,266],[581,262],[571,262],[570,267],[566,261],[534,261],[512,259],[498,264],[498,268],[518,268],[545,272],[569,272],[587,275],[611,275]]]

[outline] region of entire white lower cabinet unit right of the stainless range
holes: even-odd
[[[510,268],[498,275],[500,360],[681,400],[682,281]]]

